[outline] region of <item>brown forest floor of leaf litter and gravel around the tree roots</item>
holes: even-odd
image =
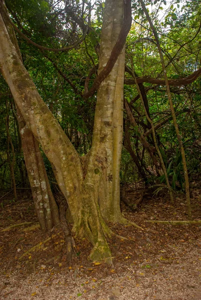
[[[129,185],[126,199],[133,203],[140,193]],[[22,192],[16,202],[6,195],[0,200],[0,298],[200,300],[201,224],[146,222],[187,220],[184,195],[174,196],[175,205],[166,194],[145,196],[136,212],[122,204],[125,217],[142,229],[110,224],[127,239],[109,240],[113,254],[109,266],[87,259],[91,246],[86,239],[75,239],[76,259],[67,264],[63,232],[55,227],[50,235],[42,234],[31,195]],[[194,186],[191,201],[193,219],[200,220],[201,186]],[[2,231],[16,223],[24,224]]]

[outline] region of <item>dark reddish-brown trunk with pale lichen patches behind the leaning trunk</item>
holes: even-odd
[[[59,223],[59,211],[51,191],[43,157],[32,131],[26,126],[18,111],[21,139],[28,177],[37,216],[43,232]]]

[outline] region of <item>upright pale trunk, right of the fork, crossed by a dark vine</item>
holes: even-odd
[[[118,38],[123,19],[123,1],[106,0],[101,33],[99,73],[106,65]],[[123,221],[120,212],[119,171],[123,134],[123,80],[125,48],[119,55],[109,76],[101,83],[94,120],[90,165],[97,164],[102,175],[99,187],[99,204],[106,220]]]

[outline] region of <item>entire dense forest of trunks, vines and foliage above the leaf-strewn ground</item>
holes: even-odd
[[[200,1],[0,0],[0,12],[1,207],[31,190],[41,230],[62,224],[68,261],[78,236],[112,263],[108,224],[143,201],[126,199],[133,182],[172,205],[183,193],[193,220]]]

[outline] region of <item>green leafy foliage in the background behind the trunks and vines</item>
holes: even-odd
[[[33,41],[48,47],[60,48],[75,44],[85,31],[91,29],[85,42],[68,52],[40,51],[27,43],[17,34],[22,57],[26,68],[33,78],[52,113],[82,156],[91,147],[96,95],[84,99],[85,79],[99,61],[99,42],[102,26],[104,2],[98,0],[94,5],[90,1],[65,1],[59,9],[51,0],[6,0],[13,22],[19,26]],[[200,10],[199,1],[165,1],[147,0],[147,8],[158,32],[164,54],[168,78],[178,79],[190,75],[199,67],[200,61]],[[91,8],[90,8],[91,7]],[[92,11],[90,10],[92,9]],[[126,51],[133,59],[137,76],[163,78],[160,57],[155,39],[150,30],[139,1],[132,0],[133,18],[127,37]],[[77,17],[77,18],[76,18]],[[126,57],[126,64],[131,62]],[[64,74],[65,76],[62,76]],[[131,74],[126,72],[126,78]],[[67,78],[67,79],[66,79]],[[92,86],[96,73],[89,80]],[[154,124],[163,122],[157,129],[157,141],[166,164],[172,188],[183,189],[183,170],[175,129],[172,123],[168,98],[163,85],[143,83],[147,92],[147,105]],[[172,99],[177,114],[177,122],[185,146],[187,167],[190,176],[200,173],[201,147],[201,79],[191,84],[171,86]],[[142,133],[150,129],[136,86],[124,85],[124,97],[129,102],[138,128],[130,126],[130,142],[145,175],[151,181],[160,180],[163,189],[164,176],[155,175],[149,153],[144,150],[139,139],[138,129]],[[6,101],[9,102],[10,134],[16,153],[17,184],[21,183],[21,167],[24,164],[22,152],[19,151],[17,125],[14,120],[12,96],[7,84],[0,77],[0,165],[7,159],[7,131],[5,126]],[[127,121],[126,114],[124,118]],[[153,146],[151,135],[147,141]],[[10,155],[12,157],[11,149]],[[155,154],[157,157],[157,154]],[[44,156],[46,169],[51,181],[54,175],[51,165]],[[130,154],[123,149],[120,178],[122,182],[140,179],[139,172]],[[10,167],[8,161],[0,169],[0,188],[11,187]]]

